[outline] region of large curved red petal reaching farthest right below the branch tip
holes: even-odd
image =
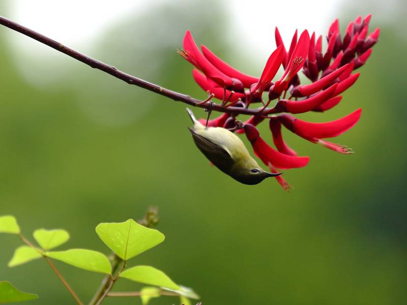
[[[362,109],[327,123],[309,123],[290,114],[280,114],[278,119],[289,130],[302,138],[324,139],[339,136],[350,130],[359,120]]]

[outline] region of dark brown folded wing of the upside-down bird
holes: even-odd
[[[209,139],[198,135],[192,128],[188,129],[192,134],[196,146],[202,151],[202,154],[221,171],[227,172],[234,164],[234,161],[227,150]]]

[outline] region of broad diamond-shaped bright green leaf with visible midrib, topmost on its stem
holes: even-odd
[[[124,260],[157,246],[165,238],[160,231],[146,228],[132,219],[122,223],[99,224],[96,233],[107,247]]]

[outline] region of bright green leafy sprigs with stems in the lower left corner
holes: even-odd
[[[154,225],[157,221],[157,209],[150,209],[144,219],[141,220],[146,226]],[[96,227],[99,237],[117,255],[112,259],[112,263],[114,264],[114,270],[119,271],[114,273],[112,273],[112,265],[109,258],[100,252],[86,249],[48,251],[61,246],[69,240],[69,233],[63,229],[35,230],[33,236],[41,248],[35,247],[20,233],[17,221],[12,216],[0,217],[0,232],[19,234],[21,240],[26,243],[26,245],[20,246],[15,250],[13,257],[8,263],[9,267],[18,266],[44,256],[84,270],[105,273],[107,276],[103,285],[108,286],[104,286],[104,289],[111,289],[114,282],[119,278],[156,286],[144,287],[139,293],[135,294],[140,296],[143,305],[147,305],[152,298],[159,297],[164,292],[164,294],[180,296],[181,302],[185,305],[190,305],[188,298],[199,297],[191,288],[177,285],[164,272],[151,266],[135,266],[125,269],[128,259],[157,246],[165,238],[161,232],[142,226],[132,219],[122,223],[102,223]],[[48,263],[51,264],[52,269],[61,278],[62,276],[56,267],[53,266],[53,263],[50,260],[48,260]],[[122,268],[119,268],[121,263]],[[69,285],[65,281],[62,282],[75,300],[79,302],[79,298]],[[102,289],[101,291],[104,290]],[[98,301],[103,297],[104,294],[101,294],[99,299],[97,298],[96,300]],[[34,298],[38,298],[38,296],[21,292],[8,282],[0,282],[0,303]]]

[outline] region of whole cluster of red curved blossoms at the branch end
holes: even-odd
[[[259,78],[230,67],[206,46],[202,45],[199,49],[189,31],[184,37],[184,48],[179,52],[195,66],[193,78],[197,84],[221,100],[222,107],[249,108],[252,104],[263,103],[256,114],[243,123],[243,129],[236,132],[245,133],[255,155],[272,172],[278,172],[279,169],[306,166],[309,161],[308,157],[297,156],[296,151],[284,142],[282,126],[312,143],[341,154],[352,153],[346,146],[325,139],[336,137],[351,129],[359,120],[361,109],[328,123],[309,123],[293,114],[308,111],[324,112],[340,102],[342,98],[340,94],[352,86],[359,77],[359,73],[352,72],[365,64],[372,52],[371,47],[379,38],[379,28],[368,35],[370,18],[369,14],[363,20],[359,16],[352,21],[347,26],[343,39],[336,19],[328,31],[328,47],[325,53],[322,49],[322,35],[316,38],[315,33],[310,36],[306,30],[299,38],[297,31],[295,32],[287,51],[276,27],[277,48],[270,55]],[[280,79],[273,82],[280,66],[284,68],[284,73]],[[298,73],[301,69],[311,81],[310,84],[300,84]],[[264,100],[264,93],[268,93],[267,102]],[[276,101],[274,106],[268,108],[272,101]],[[265,119],[269,120],[276,149],[260,137],[255,127]],[[233,129],[236,124],[236,114],[233,113],[224,113],[208,121],[208,126],[228,129]],[[277,176],[276,179],[285,190],[291,188],[282,176]]]

